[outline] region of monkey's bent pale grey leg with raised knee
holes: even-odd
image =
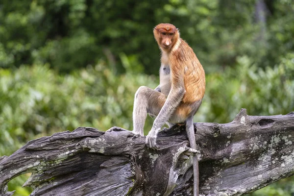
[[[133,131],[143,136],[147,113],[157,116],[165,101],[166,96],[164,94],[146,86],[141,86],[135,94]]]

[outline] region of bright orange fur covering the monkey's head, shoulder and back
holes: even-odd
[[[162,35],[163,32],[166,35]],[[205,93],[205,73],[193,49],[179,37],[178,29],[174,25],[159,24],[153,33],[162,50],[161,63],[169,64],[171,67],[172,87],[183,85],[185,88],[186,93],[182,102],[193,103],[201,100]],[[171,47],[165,46],[167,40],[171,42]],[[176,48],[178,41],[179,45]],[[189,108],[184,108],[179,107],[178,110],[185,110],[181,111],[183,114],[189,113]]]

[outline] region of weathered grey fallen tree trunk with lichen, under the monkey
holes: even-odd
[[[294,112],[247,116],[242,109],[231,123],[195,127],[201,195],[243,195],[294,174]],[[159,150],[147,149],[145,137],[130,131],[90,127],[30,141],[0,157],[0,195],[11,196],[7,182],[27,172],[33,196],[193,195],[184,126],[161,131],[157,141]]]

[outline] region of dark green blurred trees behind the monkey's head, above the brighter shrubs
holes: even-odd
[[[265,21],[256,0],[2,0],[0,67],[49,64],[56,70],[94,66],[104,59],[124,73],[142,64],[157,73],[159,49],[152,28],[172,23],[195,49],[206,72],[233,67],[248,56],[273,67],[294,50],[294,3],[266,0]]]

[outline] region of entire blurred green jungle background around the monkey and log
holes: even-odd
[[[136,90],[159,83],[159,23],[206,72],[195,122],[294,111],[293,0],[1,0],[0,156],[78,126],[132,130]],[[9,190],[29,195],[28,176]],[[294,196],[294,177],[250,195]]]

